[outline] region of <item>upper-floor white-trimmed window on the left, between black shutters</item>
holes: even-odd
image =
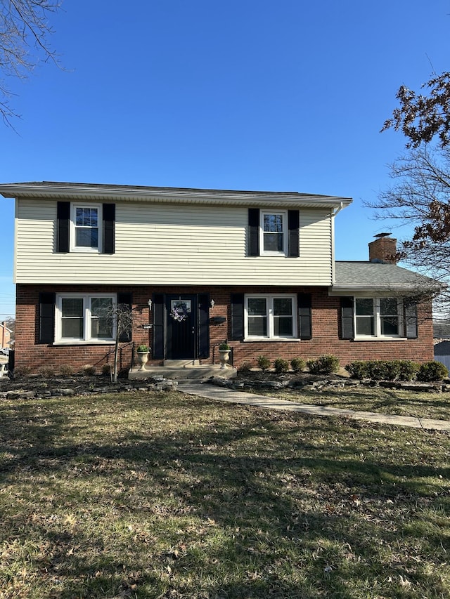
[[[101,204],[72,204],[71,251],[101,252]]]

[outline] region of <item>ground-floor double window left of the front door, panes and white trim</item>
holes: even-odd
[[[114,341],[116,305],[115,295],[58,295],[55,341],[60,343]]]

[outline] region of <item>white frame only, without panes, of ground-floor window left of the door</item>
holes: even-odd
[[[83,300],[83,337],[62,337],[62,303],[63,299],[82,298]],[[107,339],[91,338],[91,298],[111,298],[113,310],[117,308],[117,294],[57,294],[55,304],[55,343],[64,345],[88,344],[105,345],[114,343],[117,322],[113,322],[113,336]]]

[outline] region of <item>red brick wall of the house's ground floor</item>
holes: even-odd
[[[113,360],[114,345],[47,345],[38,344],[39,322],[38,301],[39,292],[80,292],[80,293],[108,293],[117,291],[132,291],[134,302],[134,345],[146,343],[152,345],[152,329],[143,329],[142,325],[151,322],[148,310],[148,299],[153,293],[186,293],[196,294],[209,292],[214,299],[214,308],[210,310],[210,317],[224,316],[224,324],[211,325],[210,327],[210,358],[202,360],[203,363],[219,361],[218,345],[231,336],[230,322],[230,296],[233,292],[265,293],[266,288],[252,287],[251,289],[233,289],[231,287],[86,287],[86,286],[17,286],[17,310],[15,333],[15,366],[30,367],[37,372],[43,367],[58,367],[71,364],[75,369],[81,369],[85,364],[93,364],[98,369],[105,363]],[[266,355],[270,360],[283,357],[291,360],[293,357],[302,357],[304,360],[319,357],[323,354],[334,354],[340,358],[342,365],[352,360],[383,360],[404,359],[415,362],[433,360],[432,321],[426,318],[428,309],[419,314],[418,339],[407,341],[348,341],[341,340],[340,334],[340,298],[328,297],[326,288],[297,288],[285,287],[283,293],[307,292],[312,294],[312,339],[309,341],[257,341],[240,342],[230,341],[233,348],[233,362],[239,366],[243,362],[256,365],[259,355]],[[131,364],[131,345],[123,345],[120,367],[129,368]],[[149,364],[160,364],[160,360],[152,360]]]

